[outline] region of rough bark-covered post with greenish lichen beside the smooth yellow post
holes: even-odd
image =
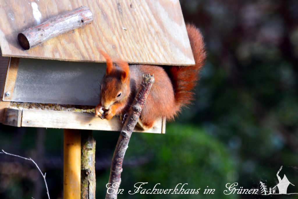
[[[81,131],[81,199],[95,199],[95,140],[92,130]]]

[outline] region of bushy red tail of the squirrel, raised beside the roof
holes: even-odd
[[[194,99],[192,90],[199,79],[199,71],[206,57],[201,32],[191,24],[186,24],[186,29],[193,51],[195,65],[172,66],[169,69],[175,92],[176,112],[179,112],[182,107],[189,105]]]

